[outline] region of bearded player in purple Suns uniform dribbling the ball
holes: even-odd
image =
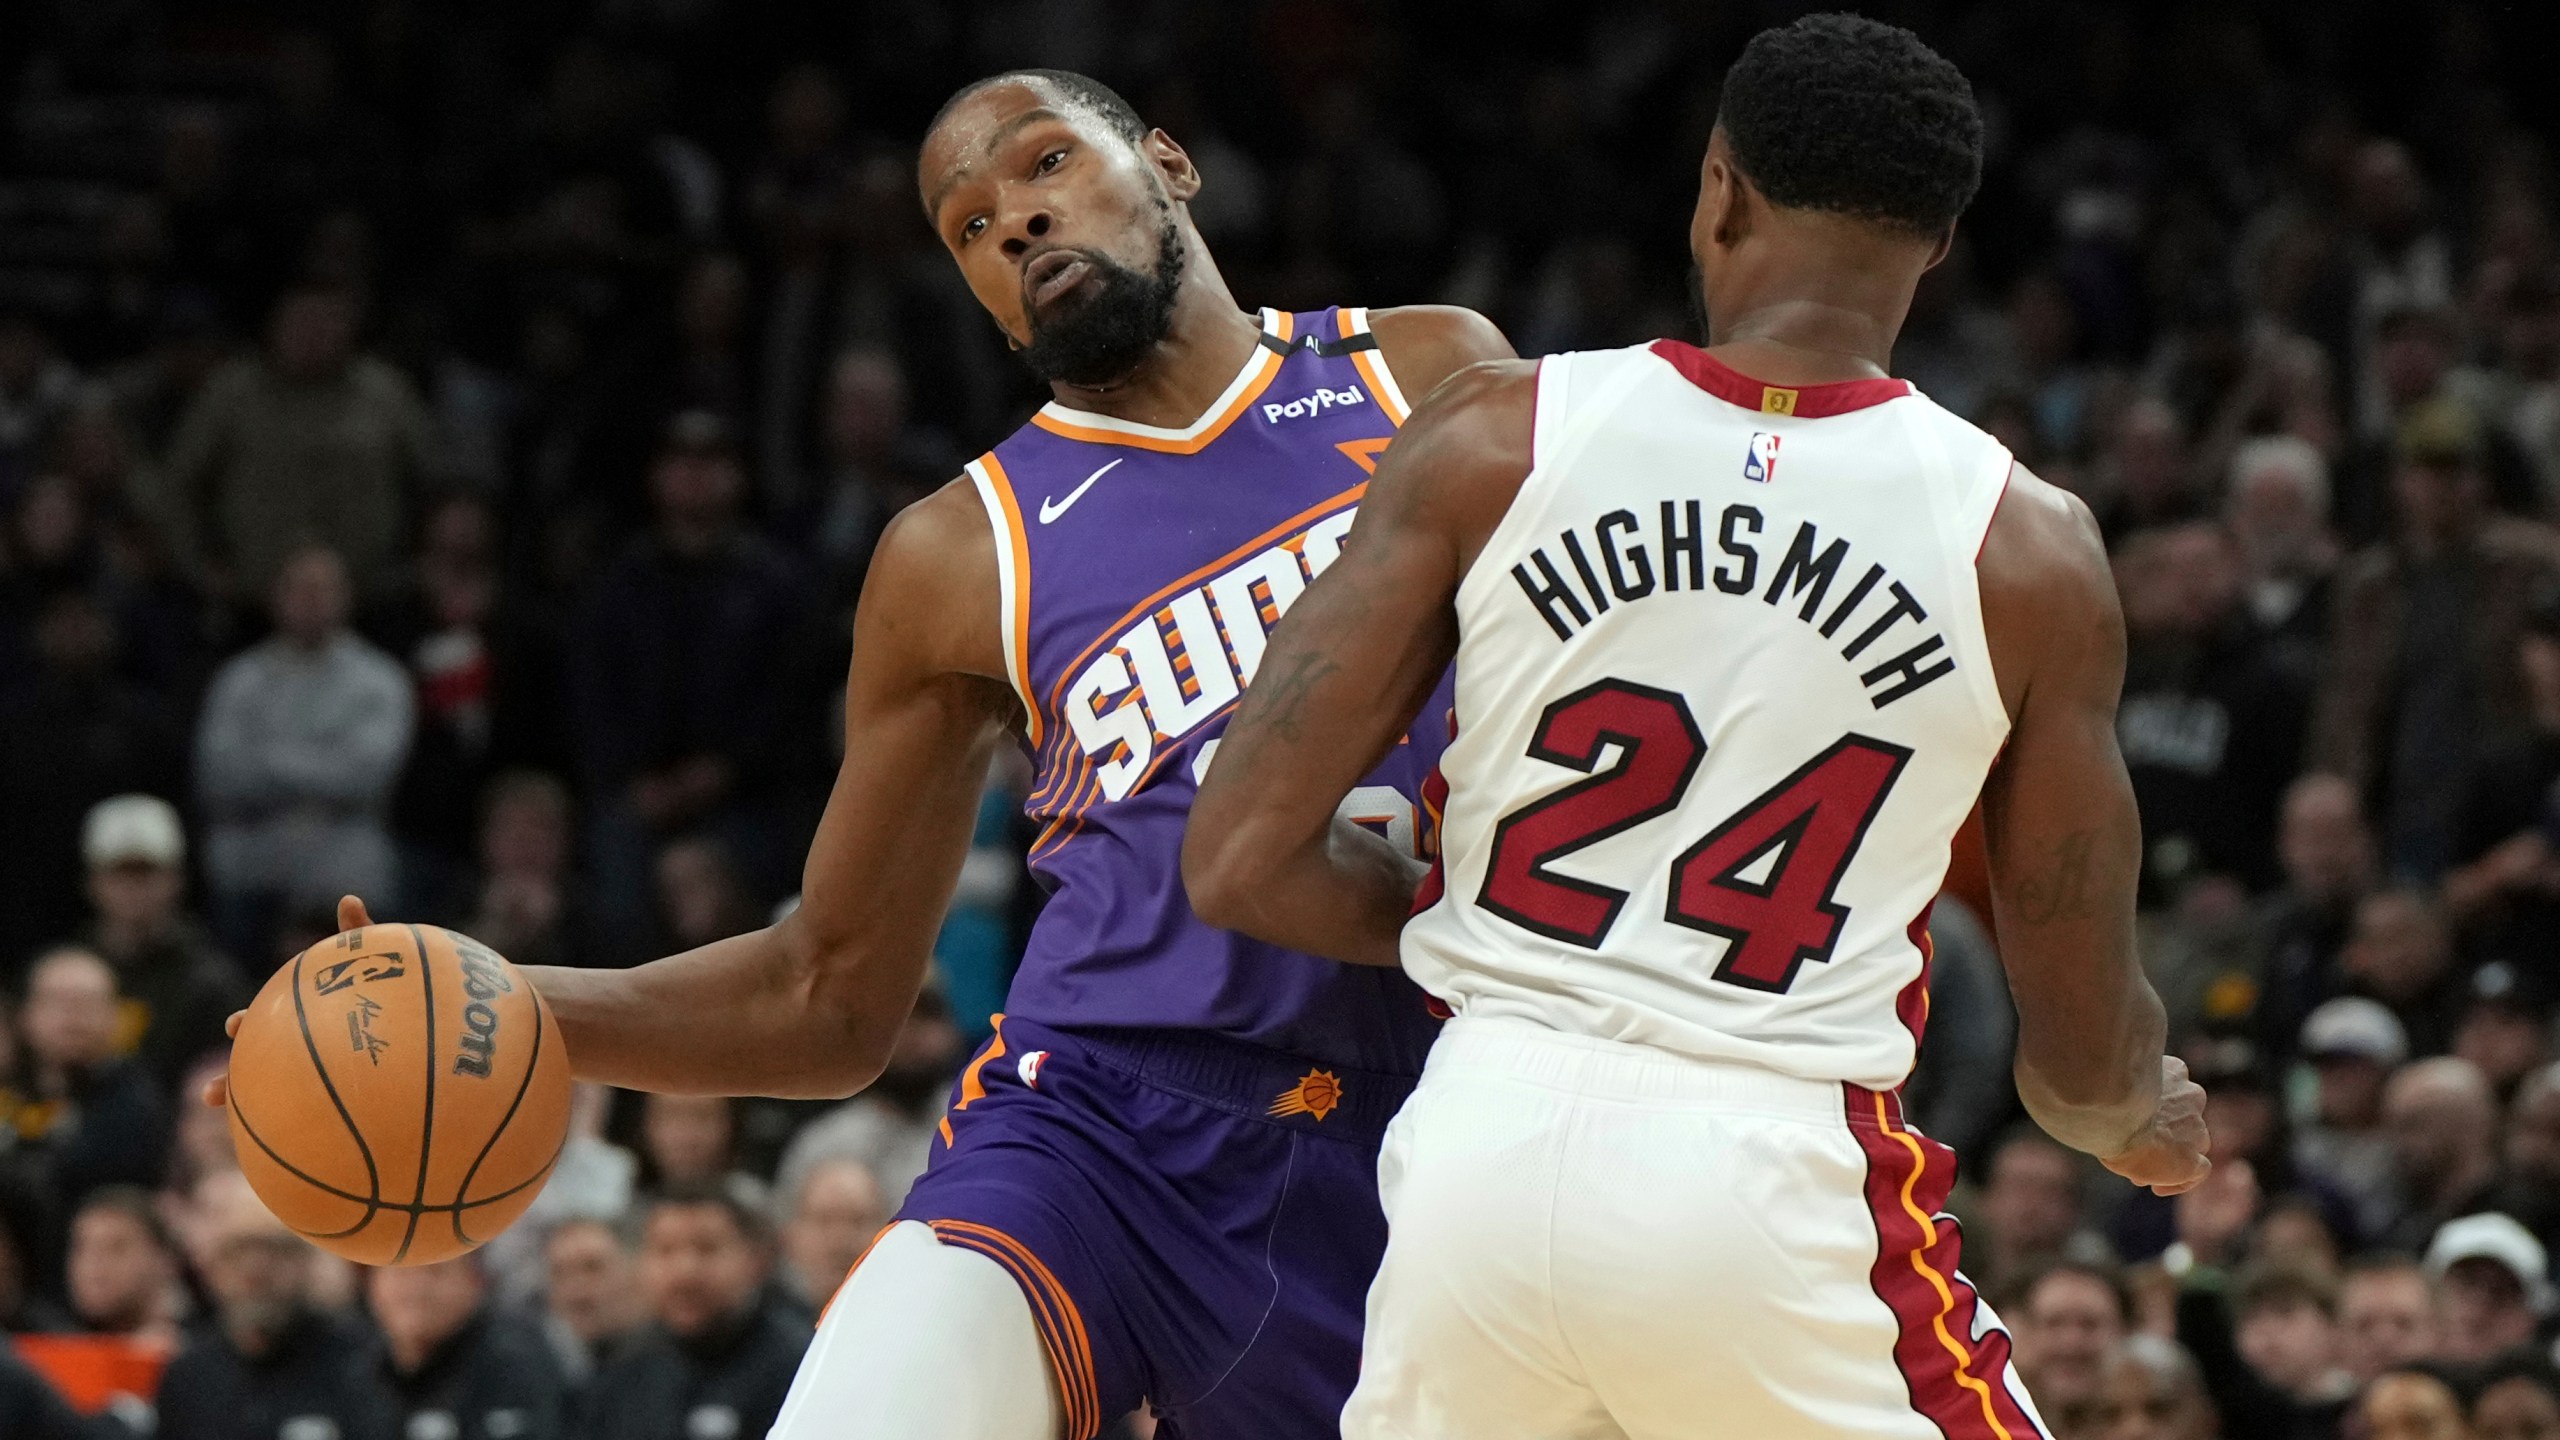
[[[1083,1440],[1142,1399],[1165,1435],[1334,1435],[1385,1245],[1377,1143],[1436,1020],[1395,971],[1203,925],[1183,822],[1408,400],[1510,346],[1449,307],[1239,310],[1190,159],[1075,74],[955,95],[919,184],[1057,400],[881,538],[799,912],[527,974],[581,1079],[850,1094],[924,979],[988,758],[1029,743],[1047,910],[773,1435]],[[1413,853],[1444,740],[1416,725],[1344,812]]]

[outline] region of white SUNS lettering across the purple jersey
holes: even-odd
[[[1270,646],[1270,628],[1341,553],[1357,507],[1229,566],[1208,584],[1167,597],[1075,671],[1060,707],[1091,756],[1103,799],[1124,799],[1155,753],[1224,712]]]

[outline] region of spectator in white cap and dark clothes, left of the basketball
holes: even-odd
[[[120,1043],[164,1094],[210,1051],[228,1048],[223,1022],[248,1004],[241,966],[184,910],[187,830],[156,794],[100,799],[79,833],[95,920],[82,943],[115,966],[125,997]]]

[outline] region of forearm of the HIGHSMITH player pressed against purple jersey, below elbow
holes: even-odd
[[[1395,846],[1344,820],[1293,846],[1201,828],[1183,843],[1183,881],[1201,920],[1354,966],[1398,963],[1421,876]]]

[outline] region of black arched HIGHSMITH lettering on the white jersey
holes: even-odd
[[[1556,641],[1572,641],[1608,615],[1610,605],[1682,589],[1705,594],[1713,587],[1720,594],[1792,607],[1823,641],[1846,635],[1841,659],[1864,664],[1859,684],[1876,710],[1956,669],[1946,635],[1928,628],[1920,600],[1879,564],[1864,566],[1861,574],[1848,541],[1823,536],[1812,520],[1800,520],[1779,551],[1769,518],[1756,505],[1725,505],[1715,525],[1713,566],[1705,510],[1697,500],[1664,500],[1651,528],[1646,520],[1633,510],[1610,510],[1587,525],[1562,530],[1510,566],[1510,579],[1521,584],[1521,594]],[[1564,556],[1562,566],[1549,548]],[[1833,600],[1833,587],[1846,574],[1856,579]],[[1869,661],[1869,651],[1887,659]]]

